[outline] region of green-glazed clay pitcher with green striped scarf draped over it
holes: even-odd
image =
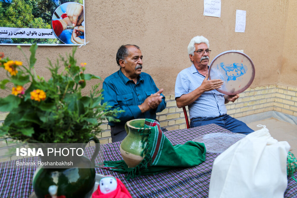
[[[140,135],[140,132],[143,131],[143,134],[148,134],[150,131],[150,128],[143,128],[144,123],[145,119],[135,119],[125,124],[127,136],[121,142],[120,151],[128,167],[136,167],[144,158],[144,156],[140,155],[143,151],[141,142],[143,136]]]

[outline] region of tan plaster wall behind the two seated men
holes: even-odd
[[[245,33],[234,31],[236,9],[247,11]],[[203,16],[202,0],[85,0],[88,43],[78,48],[76,57],[78,63],[87,63],[87,73],[104,80],[119,69],[115,60],[119,46],[138,45],[144,56],[142,71],[149,73],[159,88],[164,88],[164,95],[172,95],[178,72],[191,65],[187,54],[190,39],[203,35],[210,41],[210,61],[226,50],[244,50],[256,69],[251,88],[276,84],[279,80],[295,85],[297,39],[294,33],[297,28],[294,10],[295,0],[223,0],[221,17],[217,18]],[[22,49],[29,57],[29,46],[22,46]],[[37,74],[49,78],[46,58],[54,62],[59,54],[71,50],[70,46],[39,46]],[[0,45],[0,51],[11,59],[25,62],[15,46]],[[290,77],[287,77],[288,72]],[[2,70],[0,79],[3,78]],[[91,81],[95,83],[98,81]],[[90,87],[85,88],[86,94]],[[1,97],[7,94],[10,91],[0,90]]]

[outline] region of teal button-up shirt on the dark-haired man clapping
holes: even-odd
[[[142,104],[144,100],[151,94],[159,91],[152,77],[144,72],[138,76],[137,83],[129,80],[121,70],[113,73],[105,78],[103,82],[103,100],[108,102],[110,109],[119,108],[125,112],[119,113],[116,118],[120,120],[119,123],[108,122],[110,126],[124,125],[127,121],[138,118],[156,119],[156,113],[161,112],[166,107],[165,96],[162,102],[156,109],[151,109],[147,112],[141,113],[138,105]]]

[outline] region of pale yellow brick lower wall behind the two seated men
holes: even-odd
[[[226,104],[227,113],[234,118],[268,111],[277,111],[297,117],[297,87],[266,85],[248,88],[239,95],[240,97],[234,103],[229,102]],[[157,113],[160,125],[168,130],[186,128],[184,112],[176,107],[174,95],[165,96],[165,101],[167,102],[166,108]],[[0,113],[0,125],[7,114]],[[110,126],[108,126],[108,122],[105,121],[100,128],[102,133],[97,136],[100,143],[110,143]],[[17,142],[13,142],[9,137],[0,137],[0,161],[15,159],[16,156],[13,156],[13,153],[10,153],[11,149],[8,149],[15,147],[15,145],[17,145]]]

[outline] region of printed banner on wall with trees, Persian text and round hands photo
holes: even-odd
[[[86,45],[84,0],[0,0],[0,45]]]

